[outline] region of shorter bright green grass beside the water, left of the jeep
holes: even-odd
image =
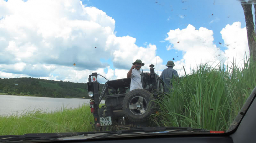
[[[53,113],[35,110],[23,115],[0,116],[0,135],[93,131],[90,122],[93,115],[88,105]]]

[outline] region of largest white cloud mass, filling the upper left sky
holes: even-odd
[[[109,58],[106,55],[110,55],[110,51],[104,50],[105,41],[113,34],[115,20],[95,7],[81,5],[78,0],[66,2],[4,2],[0,8],[8,12],[0,21],[0,35],[6,37],[5,42],[1,42],[4,45],[1,53],[15,57],[14,63],[18,58],[30,64],[77,63],[90,69],[105,67],[99,59]],[[90,64],[92,61],[94,67]]]

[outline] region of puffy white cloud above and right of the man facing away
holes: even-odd
[[[170,45],[167,50],[183,51],[183,59],[175,62],[175,69],[178,73],[184,75],[183,66],[186,73],[190,69],[194,69],[197,64],[209,62],[213,66],[220,62],[223,58],[224,52],[218,50],[213,44],[213,31],[207,28],[200,27],[199,30],[192,25],[188,25],[185,29],[170,30],[168,37],[165,39],[169,41]]]

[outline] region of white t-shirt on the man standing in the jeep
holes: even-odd
[[[133,68],[131,71],[131,87],[130,91],[135,90],[135,89],[143,89],[142,84],[141,84],[141,71]]]

